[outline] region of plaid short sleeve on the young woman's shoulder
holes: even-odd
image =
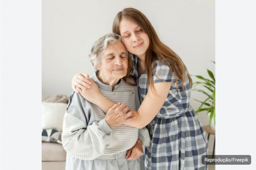
[[[168,65],[156,61],[153,69],[153,83],[160,82],[175,82],[175,76]]]

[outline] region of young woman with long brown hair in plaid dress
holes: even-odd
[[[113,32],[122,37],[130,54],[131,75],[143,99],[129,125],[148,125],[151,142],[145,148],[146,169],[207,169],[201,161],[208,152],[206,133],[189,105],[193,83],[181,58],[159,40],[146,16],[134,8],[116,15]],[[73,90],[91,90],[88,93],[93,96],[85,92],[83,96],[89,101],[94,98],[94,104],[107,113],[115,103],[93,91],[90,81],[87,74],[75,75]]]

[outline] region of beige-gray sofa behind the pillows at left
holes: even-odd
[[[42,96],[42,101],[68,103],[66,95]],[[59,143],[42,142],[42,170],[65,170],[66,151]]]

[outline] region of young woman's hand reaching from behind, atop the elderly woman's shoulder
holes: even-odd
[[[72,79],[72,89],[79,93],[79,91],[91,88],[91,82],[88,74],[80,73],[74,75]]]

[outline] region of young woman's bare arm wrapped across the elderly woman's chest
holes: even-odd
[[[87,90],[81,90],[79,93],[83,97],[91,96],[90,102],[94,103],[95,105],[99,106],[103,112],[107,113],[108,109],[116,104],[114,101],[106,98],[105,96],[101,95],[99,91],[95,90],[94,83],[92,80],[91,86],[92,88]],[[151,88],[148,88],[148,94],[146,95],[145,99],[143,100],[141,106],[138,109],[138,112],[131,111],[133,115],[131,117],[136,117],[136,119],[132,122],[125,123],[126,125],[133,126],[135,128],[143,128],[148,125],[154,117],[157,115],[159,110],[164,104],[165,99],[167,98],[168,92],[171,88],[171,82],[161,82],[155,83],[155,92],[151,91]],[[94,91],[92,91],[94,89]],[[87,94],[93,94],[87,95]],[[86,96],[85,96],[86,95]],[[86,98],[87,99],[87,98]],[[119,107],[116,108],[118,112],[122,112]],[[119,110],[118,110],[119,109]]]

